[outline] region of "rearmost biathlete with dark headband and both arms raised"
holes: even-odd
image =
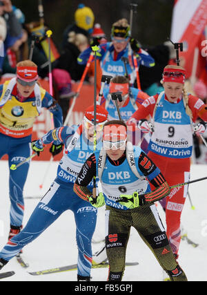
[[[97,59],[101,62],[101,70],[103,75],[115,77],[117,75],[124,76],[126,70],[121,57],[128,58],[126,68],[130,76],[130,85],[135,83],[137,78],[137,67],[141,64],[151,68],[155,66],[155,60],[139,46],[139,42],[130,36],[130,25],[127,19],[119,19],[113,23],[111,30],[111,42],[99,45],[99,39],[93,39],[91,46],[99,46]],[[79,64],[86,64],[91,47],[84,50],[78,57]]]

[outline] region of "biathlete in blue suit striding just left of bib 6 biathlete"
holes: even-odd
[[[97,221],[97,209],[79,198],[73,186],[83,163],[92,155],[94,149],[101,149],[103,124],[108,120],[108,112],[97,106],[97,144],[94,146],[94,106],[86,109],[80,126],[60,127],[49,131],[40,140],[32,142],[32,149],[43,151],[45,144],[63,143],[65,151],[59,162],[57,177],[50,189],[34,209],[26,227],[12,238],[0,252],[0,269],[6,265],[29,242],[32,242],[64,211],[70,209],[75,216],[78,247],[77,279],[90,280],[92,266],[91,240]],[[88,161],[90,167],[92,162]],[[92,189],[92,182],[88,187]]]

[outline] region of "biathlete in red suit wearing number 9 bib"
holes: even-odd
[[[185,78],[186,70],[181,66],[166,66],[162,79],[164,92],[146,99],[127,122],[136,126],[138,124],[144,133],[152,133],[148,156],[159,165],[170,186],[189,180],[193,133],[202,135],[206,130],[206,105],[198,97],[186,93]],[[152,117],[152,122],[146,120],[148,115]],[[204,122],[193,125],[197,117]],[[187,190],[187,186],[174,189],[161,202],[166,211],[168,240],[176,257],[181,241],[180,218]]]

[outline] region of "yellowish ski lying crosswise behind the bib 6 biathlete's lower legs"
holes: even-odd
[[[139,265],[139,263],[126,263],[126,266],[133,266],[133,265]],[[99,263],[98,265],[92,265],[92,268],[104,268],[108,267],[108,263]],[[39,272],[28,272],[28,274],[31,274],[32,276],[40,276],[42,274],[55,274],[57,272],[70,272],[72,270],[77,270],[77,264],[75,265],[67,265],[63,267],[57,267],[52,269],[45,269],[41,270]]]

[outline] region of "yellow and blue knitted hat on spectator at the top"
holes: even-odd
[[[89,7],[79,4],[75,12],[75,23],[79,28],[90,32],[94,23],[94,14]]]

